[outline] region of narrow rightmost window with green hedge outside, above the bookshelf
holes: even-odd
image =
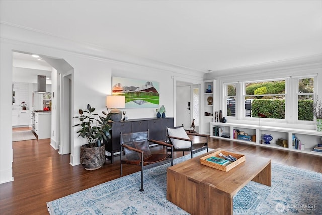
[[[314,78],[297,79],[297,118],[313,121]]]

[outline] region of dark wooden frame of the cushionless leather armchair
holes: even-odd
[[[153,144],[165,146],[166,147],[166,149],[165,149],[166,154],[153,154],[152,153],[151,157],[149,157],[148,159],[144,159],[144,151],[143,150],[128,146],[123,141],[124,135],[132,135],[132,134],[146,133],[146,132],[147,132],[147,141],[151,142]],[[156,167],[156,166],[167,164],[167,163],[171,163],[171,166],[173,165],[173,146],[171,144],[166,143],[166,142],[149,139],[149,131],[148,130],[144,131],[144,132],[125,133],[125,134],[122,134],[122,132],[120,132],[120,146],[121,146],[121,153],[120,153],[121,176],[122,176],[122,164],[141,166],[141,189],[140,189],[140,191],[144,191],[144,189],[143,189],[143,170],[150,169],[152,167]],[[140,153],[141,159],[140,160],[133,160],[133,161],[132,160],[124,160],[123,159],[124,148],[135,151],[137,153]],[[167,153],[169,151],[171,152],[171,154]],[[155,156],[153,156],[153,155],[155,155]],[[170,158],[170,159],[168,159],[168,158]]]

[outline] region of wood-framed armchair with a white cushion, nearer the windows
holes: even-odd
[[[169,143],[173,145],[173,151],[182,151],[191,153],[192,155],[207,149],[208,152],[208,137],[206,134],[190,133],[186,132],[183,126],[169,128],[166,127],[167,138]]]

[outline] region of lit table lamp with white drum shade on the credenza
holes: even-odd
[[[125,108],[125,96],[106,96],[107,110],[112,108],[110,113],[116,113],[111,116],[111,120],[119,122],[122,119],[122,111],[118,108]]]

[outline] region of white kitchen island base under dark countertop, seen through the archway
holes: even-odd
[[[51,112],[35,112],[33,131],[38,139],[51,138]]]

